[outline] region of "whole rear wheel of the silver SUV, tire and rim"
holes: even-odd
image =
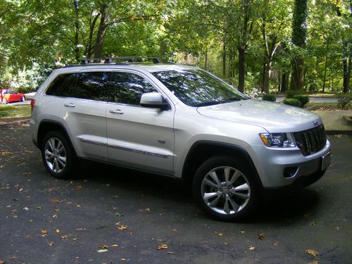
[[[42,160],[46,170],[54,177],[67,179],[73,170],[73,151],[60,132],[47,133],[42,142]]]

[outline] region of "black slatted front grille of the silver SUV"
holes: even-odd
[[[308,156],[324,148],[327,142],[327,135],[325,134],[324,125],[320,125],[310,130],[295,132],[294,139],[303,156]]]

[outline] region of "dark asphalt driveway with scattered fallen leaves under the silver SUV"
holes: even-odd
[[[56,180],[27,130],[0,128],[6,264],[351,263],[351,136],[331,137],[332,166],[320,181],[231,223],[208,219],[172,180],[101,165]]]

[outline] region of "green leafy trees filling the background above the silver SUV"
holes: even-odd
[[[351,23],[347,0],[0,0],[0,80],[34,90],[82,58],[158,56],[241,92],[348,92]]]

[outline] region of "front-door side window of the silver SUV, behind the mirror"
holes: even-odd
[[[156,89],[143,77],[134,73],[115,73],[115,102],[139,106],[141,96]]]

